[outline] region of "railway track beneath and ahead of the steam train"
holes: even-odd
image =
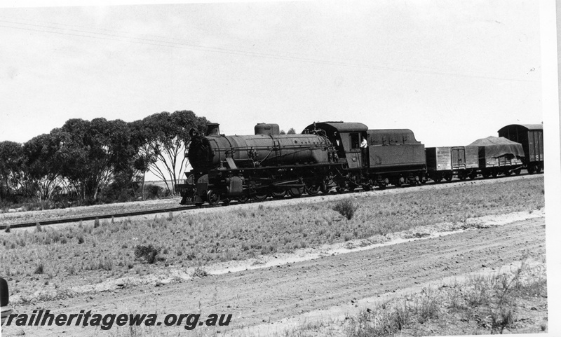
[[[521,174],[521,176],[530,176],[532,174]],[[513,176],[513,177],[518,177],[518,176]],[[509,177],[499,177],[498,179],[506,179],[508,180]],[[477,179],[478,181],[494,181],[496,179]],[[435,185],[442,185],[442,184],[450,184],[453,185],[454,183],[461,183],[464,181],[459,181],[459,180],[454,180],[454,181],[450,181],[447,183],[430,183],[430,184],[435,184]],[[392,186],[389,188],[386,188],[388,190],[391,189],[400,189],[402,187],[397,187],[397,186]],[[346,193],[355,193],[357,191],[362,191],[362,189],[358,188],[355,191],[344,191],[343,193],[337,193],[337,194],[346,194]],[[327,194],[331,194],[331,193],[327,193]],[[299,198],[313,198],[316,195],[302,195]],[[254,203],[254,202],[269,202],[269,201],[274,201],[276,199],[266,199],[266,200],[250,200],[246,203]],[[232,201],[231,204],[232,205],[236,205],[239,202],[237,201]],[[179,211],[187,211],[189,209],[198,209],[198,208],[213,208],[213,207],[220,207],[222,206],[222,204],[219,205],[202,205],[200,207],[197,207],[195,205],[191,205],[191,206],[182,206],[182,207],[171,207],[171,208],[163,208],[163,209],[149,209],[146,211],[137,211],[137,212],[126,212],[126,213],[113,213],[113,214],[100,214],[100,215],[90,215],[90,216],[78,216],[75,218],[62,218],[62,219],[54,219],[54,220],[44,220],[44,221],[31,221],[31,222],[27,222],[27,223],[14,223],[14,224],[4,224],[4,225],[0,225],[0,231],[4,231],[6,228],[29,228],[29,227],[33,227],[33,226],[37,226],[37,223],[39,223],[41,226],[48,226],[48,225],[56,225],[56,224],[60,224],[60,223],[73,223],[73,222],[80,222],[80,221],[92,221],[95,219],[111,219],[111,218],[125,218],[128,216],[139,216],[139,215],[147,215],[147,214],[159,214],[159,213],[168,213],[168,212],[179,212]]]

